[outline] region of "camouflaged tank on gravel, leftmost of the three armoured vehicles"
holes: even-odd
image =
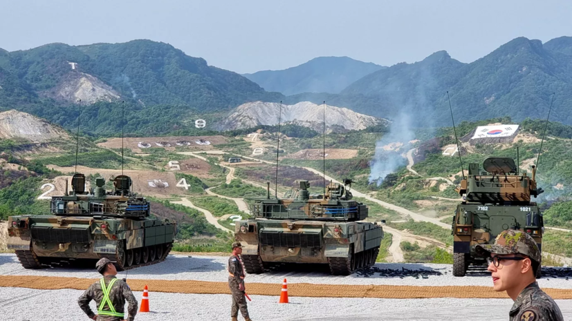
[[[131,178],[113,179],[114,189],[95,179],[85,191],[85,176],[75,174],[71,193],[54,196],[51,215],[8,217],[8,249],[24,268],[107,257],[127,270],[162,262],[171,251],[176,223],[149,216],[149,202],[131,193]]]

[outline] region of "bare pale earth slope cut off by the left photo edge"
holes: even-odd
[[[48,142],[52,139],[68,138],[68,133],[44,119],[17,110],[8,110],[0,113],[0,138]]]

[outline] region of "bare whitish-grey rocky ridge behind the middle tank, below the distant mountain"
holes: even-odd
[[[280,104],[255,101],[239,106],[220,124],[222,130],[251,128],[259,125],[278,124]],[[302,101],[282,106],[282,123],[292,122],[300,126],[322,131],[323,106]],[[355,113],[347,108],[326,105],[326,126],[339,126],[345,130],[361,130],[379,124],[381,119]]]

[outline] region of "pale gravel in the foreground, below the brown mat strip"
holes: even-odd
[[[89,320],[77,306],[82,291],[0,288],[2,320]],[[134,293],[140,302],[141,292]],[[508,299],[347,299],[252,296],[248,309],[252,320],[507,320]],[[572,300],[557,300],[564,320],[572,320]],[[31,308],[33,307],[33,308]],[[91,304],[95,309],[95,304]],[[138,313],[136,320],[177,321],[230,320],[230,295],[149,293],[151,313]],[[239,317],[239,320],[241,318]]]

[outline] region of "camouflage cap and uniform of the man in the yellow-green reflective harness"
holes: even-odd
[[[107,264],[105,260],[107,260],[108,263],[111,262],[108,259],[102,259],[98,262],[98,264]],[[98,264],[96,264],[96,266],[98,266]],[[116,279],[114,275],[105,276],[103,278],[105,282],[104,284],[109,286],[109,283],[113,279]],[[91,300],[95,300],[97,307],[99,308],[103,300],[103,296],[104,295],[101,288],[101,283],[100,280],[98,280],[89,286],[89,288],[82,294],[82,296],[80,296],[80,299],[77,300],[77,303],[80,304],[80,308],[82,308],[82,310],[89,318],[93,318],[95,313],[91,311],[89,302]],[[98,315],[98,321],[118,321],[122,319],[129,321],[135,320],[135,315],[137,314],[137,300],[135,299],[135,296],[133,296],[129,286],[127,286],[127,283],[123,282],[122,280],[116,280],[116,282],[113,284],[113,286],[111,286],[111,289],[109,290],[109,300],[111,300],[111,304],[113,304],[113,308],[117,313],[124,313],[124,304],[127,300],[127,302],[129,302],[129,318],[125,318],[125,316],[123,318],[119,318],[112,315]],[[103,310],[109,311],[107,304],[104,305]]]

